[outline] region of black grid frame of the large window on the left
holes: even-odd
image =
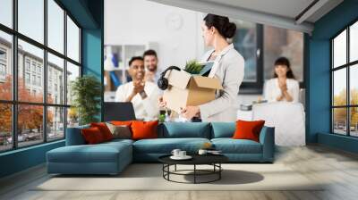
[[[71,107],[71,104],[67,104],[67,96],[64,96],[64,103],[63,104],[50,104],[50,103],[47,103],[47,53],[50,53],[50,54],[53,54],[59,58],[62,58],[64,59],[64,94],[66,94],[67,92],[67,87],[66,87],[66,84],[67,84],[67,79],[66,79],[66,76],[65,74],[67,73],[67,62],[69,63],[72,63],[76,66],[78,66],[80,68],[80,74],[79,76],[81,77],[82,76],[82,66],[81,66],[81,46],[82,46],[82,40],[81,40],[81,32],[82,32],[82,27],[81,25],[79,24],[78,21],[76,21],[72,14],[70,12],[68,12],[65,8],[64,8],[64,5],[61,4],[58,0],[53,0],[55,2],[55,4],[57,4],[61,9],[64,10],[64,16],[63,16],[63,21],[64,21],[64,53],[60,53],[60,52],[57,52],[55,49],[47,46],[47,29],[48,29],[48,26],[47,26],[47,19],[48,19],[48,15],[47,15],[47,1],[48,0],[43,0],[44,2],[44,42],[43,44],[41,44],[40,42],[38,42],[37,40],[35,39],[32,39],[30,37],[27,37],[26,35],[24,34],[21,34],[21,32],[18,31],[18,0],[13,0],[12,1],[12,9],[13,9],[13,16],[12,16],[12,25],[13,27],[12,28],[9,28],[7,26],[5,26],[4,24],[1,24],[0,23],[0,31],[3,31],[4,33],[7,33],[7,34],[10,34],[11,37],[12,37],[12,48],[11,48],[11,51],[12,51],[12,57],[11,57],[11,64],[10,64],[10,67],[12,67],[12,72],[13,72],[13,98],[12,100],[1,100],[0,99],[0,104],[11,104],[12,106],[12,148],[9,148],[9,149],[4,149],[4,150],[0,150],[0,154],[4,153],[4,152],[10,152],[10,151],[14,151],[14,150],[17,150],[17,149],[21,149],[21,148],[27,148],[27,147],[30,147],[30,146],[38,146],[38,145],[41,145],[41,144],[44,144],[44,143],[48,143],[48,142],[55,142],[55,141],[58,141],[58,140],[63,140],[65,137],[66,137],[66,128],[67,128],[67,110],[68,108]],[[80,58],[79,58],[79,62],[76,62],[74,60],[72,60],[70,57],[67,56],[67,23],[66,23],[66,19],[67,19],[67,16],[69,18],[71,18],[71,20],[75,23],[75,25],[79,28],[79,55],[80,55]],[[40,76],[40,79],[41,79],[41,86],[43,86],[43,96],[44,96],[44,99],[41,103],[35,103],[35,102],[23,102],[23,101],[19,101],[18,100],[18,57],[19,57],[19,51],[18,51],[18,39],[21,39],[22,41],[24,42],[27,42],[29,43],[30,45],[32,46],[36,46],[40,49],[43,50],[43,53],[44,53],[44,56],[43,56],[43,68],[42,68],[42,71],[43,71],[43,74]],[[25,59],[25,57],[24,57]],[[24,60],[24,63],[25,63],[26,60]],[[32,74],[32,69],[31,69],[31,66],[32,66],[32,63],[30,63],[30,76]],[[24,72],[27,71],[27,66],[24,64],[24,66],[22,66],[23,69],[24,69]],[[36,65],[37,67],[37,65]],[[38,71],[36,71],[37,68],[35,68],[35,74],[37,74]],[[38,76],[36,76],[38,78]],[[26,81],[24,79],[24,81]],[[30,80],[32,81],[32,80]],[[36,86],[38,86],[38,84],[36,84]],[[18,134],[17,134],[17,126],[18,126],[18,106],[21,105],[21,104],[24,104],[24,105],[40,105],[42,106],[42,109],[43,109],[43,121],[42,121],[42,127],[44,129],[42,129],[42,135],[43,135],[43,138],[42,138],[42,141],[38,141],[38,143],[34,144],[34,145],[29,145],[29,146],[19,146],[19,142],[18,142]],[[47,109],[50,108],[50,107],[60,107],[60,108],[64,108],[64,137],[61,137],[61,138],[55,138],[55,139],[48,139],[47,136],[48,136],[48,131],[47,131]],[[46,128],[46,129],[45,129]]]

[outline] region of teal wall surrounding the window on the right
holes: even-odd
[[[358,0],[345,0],[314,24],[309,43],[307,141],[357,152],[357,139],[330,134],[330,42],[358,20]],[[324,134],[324,135],[322,135]]]

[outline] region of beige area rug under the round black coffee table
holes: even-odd
[[[31,190],[112,191],[112,190],[322,190],[300,173],[283,164],[223,164],[222,179],[212,183],[183,184],[162,177],[159,163],[134,163],[117,176],[52,176]],[[190,165],[177,170],[190,169]],[[200,169],[209,168],[201,167]],[[174,170],[174,167],[171,168]],[[210,176],[199,180],[212,179]],[[215,177],[214,177],[215,178]],[[192,176],[171,175],[171,179],[192,181]]]

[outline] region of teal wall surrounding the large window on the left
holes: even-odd
[[[102,83],[103,0],[60,0],[82,28],[82,73]],[[102,84],[103,85],[103,84]],[[98,113],[98,118],[101,113]],[[46,162],[47,151],[64,146],[64,140],[0,154],[0,178]]]

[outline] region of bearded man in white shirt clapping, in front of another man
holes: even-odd
[[[158,118],[160,91],[156,84],[144,80],[143,58],[132,57],[129,66],[132,81],[117,88],[115,101],[132,102],[137,119],[148,121]]]

